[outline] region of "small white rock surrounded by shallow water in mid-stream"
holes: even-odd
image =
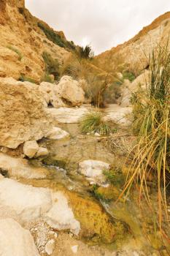
[[[79,172],[91,183],[102,184],[106,181],[103,171],[109,170],[109,167],[107,162],[89,159],[79,163]]]

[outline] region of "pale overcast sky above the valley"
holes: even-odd
[[[127,41],[164,12],[170,0],[25,0],[33,15],[95,53]]]

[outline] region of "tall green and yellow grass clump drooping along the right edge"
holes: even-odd
[[[139,183],[139,197],[152,205],[147,176],[152,173],[158,191],[158,225],[169,223],[167,191],[170,177],[170,52],[169,44],[158,45],[150,55],[147,88],[138,91],[134,105],[133,131],[137,136],[134,159],[124,192],[134,181]]]

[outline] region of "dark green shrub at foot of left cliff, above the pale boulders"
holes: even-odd
[[[60,75],[58,60],[53,59],[50,53],[47,53],[46,51],[42,53],[42,58],[45,61],[46,75],[54,75],[55,80],[58,80]]]

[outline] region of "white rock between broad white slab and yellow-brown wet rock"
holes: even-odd
[[[50,227],[57,230],[71,230],[78,235],[80,233],[80,222],[74,218],[72,208],[63,192],[55,192],[52,195],[53,207],[45,214],[45,221]]]

